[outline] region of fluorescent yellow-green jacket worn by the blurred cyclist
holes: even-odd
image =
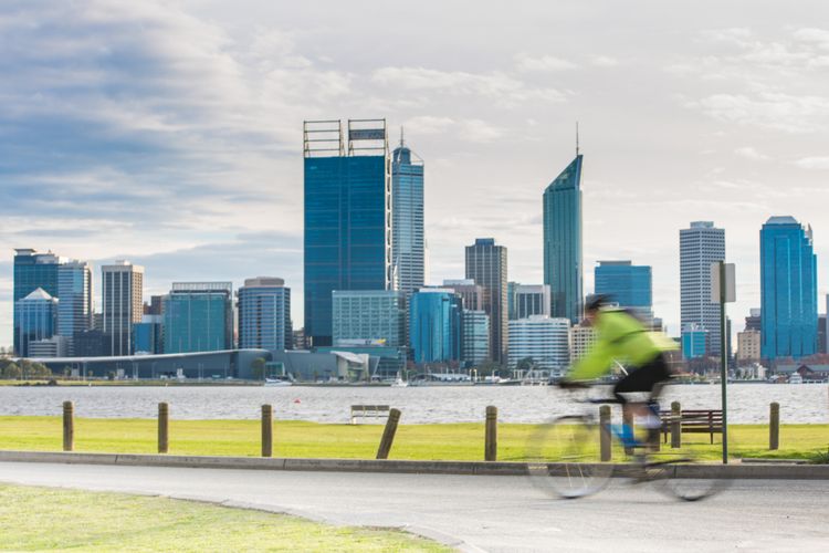
[[[610,372],[613,361],[642,366],[660,353],[676,349],[676,342],[649,331],[637,317],[620,310],[602,310],[594,321],[596,343],[567,375],[571,380],[598,378]]]

